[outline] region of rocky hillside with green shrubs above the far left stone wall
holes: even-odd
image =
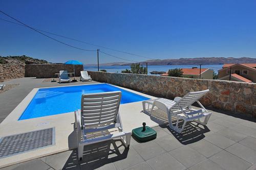
[[[28,56],[0,56],[0,64],[49,64],[46,60],[40,60]]]

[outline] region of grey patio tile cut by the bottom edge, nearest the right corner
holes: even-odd
[[[221,151],[209,159],[227,170],[245,170],[252,166],[251,163],[248,163],[245,160],[228,153],[227,151]]]

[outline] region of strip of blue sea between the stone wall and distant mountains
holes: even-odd
[[[218,70],[221,69],[223,64],[215,64],[215,65],[202,65],[201,68],[209,68],[213,69],[217,74]],[[91,70],[91,71],[97,71],[98,67],[97,66],[87,66],[84,65],[84,70]],[[200,67],[199,65],[148,65],[147,70],[148,70],[148,75],[151,75],[151,71],[167,71],[169,69],[174,69],[174,68],[192,68],[192,67]],[[131,69],[130,66],[100,66],[99,69],[105,69],[108,72],[118,72],[120,73],[122,70],[125,69]]]

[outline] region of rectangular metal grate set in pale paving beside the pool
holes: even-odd
[[[55,129],[42,129],[0,139],[0,159],[55,144]]]

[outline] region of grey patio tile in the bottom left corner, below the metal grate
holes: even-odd
[[[47,165],[46,163],[42,162],[39,159],[33,159],[27,162],[23,162],[23,163],[19,163],[19,164],[15,164],[12,166],[8,166],[8,167],[4,167],[1,168],[1,170],[47,170],[51,168],[49,165]]]

